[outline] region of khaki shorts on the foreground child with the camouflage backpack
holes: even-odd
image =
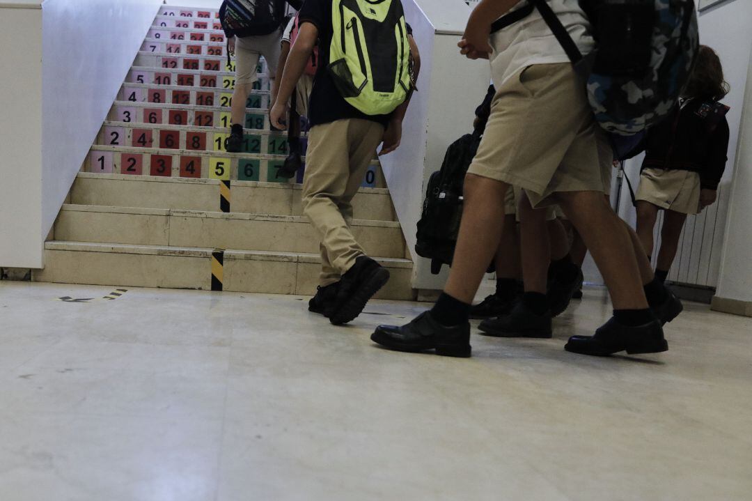
[[[602,193],[608,140],[583,85],[569,63],[528,66],[503,83],[468,172],[523,188],[534,207],[557,192]]]

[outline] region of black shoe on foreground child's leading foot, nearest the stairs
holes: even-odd
[[[403,326],[380,325],[371,334],[371,341],[396,351],[435,350],[444,357],[469,357],[470,323],[445,327],[424,311]]]

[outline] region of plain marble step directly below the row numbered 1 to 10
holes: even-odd
[[[234,181],[232,212],[300,216],[300,184]],[[71,189],[71,204],[220,211],[220,181],[156,178],[80,172]],[[356,219],[396,221],[389,190],[361,188],[353,199]]]

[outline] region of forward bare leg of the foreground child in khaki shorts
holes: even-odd
[[[452,269],[444,292],[471,304],[493,254],[499,248],[504,196],[509,185],[490,178],[465,176],[465,206]],[[502,223],[503,224],[503,223]]]

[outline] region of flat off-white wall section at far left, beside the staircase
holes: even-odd
[[[42,259],[42,11],[20,3],[0,7],[0,266],[29,267]]]

